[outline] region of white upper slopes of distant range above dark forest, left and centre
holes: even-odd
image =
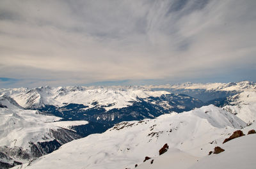
[[[35,89],[0,89],[0,94],[5,94],[15,99],[24,108],[38,108],[44,105],[61,107],[65,103],[77,103],[94,107],[95,102],[112,108],[127,107],[130,101],[149,96],[170,94],[166,91],[148,91],[143,87],[37,87]]]

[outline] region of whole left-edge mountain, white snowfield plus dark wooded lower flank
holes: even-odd
[[[60,117],[42,115],[38,110],[0,108],[0,166],[8,168],[58,149],[63,143],[82,136],[71,126],[86,121],[60,121]],[[6,166],[6,167],[4,167]]]

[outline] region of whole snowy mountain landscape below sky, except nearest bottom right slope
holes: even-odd
[[[145,156],[182,156],[188,168],[236,129],[255,126],[255,92],[248,81],[0,89],[0,164],[145,168]],[[162,158],[157,150],[165,143]]]

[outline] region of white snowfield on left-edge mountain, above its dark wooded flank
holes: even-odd
[[[87,124],[86,121],[59,121],[60,117],[42,115],[37,110],[0,108],[0,146],[29,149],[29,142],[51,141],[50,129]]]

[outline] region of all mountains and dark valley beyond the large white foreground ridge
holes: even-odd
[[[239,121],[238,126],[228,124],[230,128],[244,127],[244,122],[252,124],[256,119],[256,84],[244,81],[141,87],[0,89],[0,118],[3,119],[0,122],[0,166],[10,168],[28,163],[72,140],[107,129],[112,131],[118,128],[114,125],[122,126],[124,121],[150,121],[164,114],[188,114],[185,112],[193,112],[204,105],[211,105],[206,109],[213,114],[225,112],[223,118],[231,123]],[[182,115],[176,116],[183,118]],[[207,121],[212,123],[214,118]],[[218,121],[214,122],[218,128],[227,125],[220,119]],[[131,125],[129,122],[124,124]]]

